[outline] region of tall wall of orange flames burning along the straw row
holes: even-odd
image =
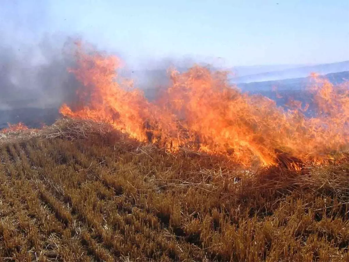
[[[299,101],[277,107],[229,83],[227,72],[193,66],[170,72],[171,85],[149,102],[133,83],[118,77],[120,61],[99,52],[76,51],[72,72],[82,83],[80,101],[61,114],[111,124],[139,141],[172,151],[180,147],[224,154],[243,165],[274,165],[280,152],[297,161],[319,161],[348,144],[348,85],[334,86],[313,75],[309,88],[316,116],[306,117]],[[297,162],[296,161],[296,162]]]

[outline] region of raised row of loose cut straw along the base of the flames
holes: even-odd
[[[172,153],[166,151],[166,148],[159,147],[156,144],[143,143],[135,139],[129,138],[127,134],[120,133],[115,130],[111,125],[103,122],[96,121],[86,121],[77,120],[71,118],[61,118],[58,119],[54,124],[50,126],[44,126],[41,129],[28,129],[24,126],[16,129],[6,129],[0,133],[0,146],[10,146],[18,143],[27,143],[32,139],[37,139],[38,141],[52,140],[52,139],[64,139],[68,141],[73,140],[83,140],[83,139],[107,139],[111,141],[110,146],[118,144],[131,146],[133,153],[136,155],[157,152],[159,154],[171,155],[173,158],[187,157],[193,159],[209,160],[211,163],[217,165],[218,163],[224,163],[225,168],[231,169],[230,172],[240,170],[240,172],[250,174],[249,179],[258,179],[259,177],[265,176],[263,179],[269,180],[268,175],[273,174],[270,182],[272,188],[275,183],[284,182],[283,174],[286,172],[288,174],[287,182],[290,184],[302,186],[302,187],[312,187],[313,189],[324,188],[326,185],[331,188],[331,190],[347,190],[344,185],[347,185],[345,168],[349,162],[348,152],[334,152],[328,155],[327,161],[322,161],[320,164],[316,162],[305,163],[301,160],[292,157],[291,155],[275,150],[277,155],[277,164],[269,167],[245,167],[232,162],[231,159],[224,155],[210,155],[203,152],[197,152],[184,147],[180,148],[177,153]],[[330,172],[331,169],[341,167],[343,168],[343,177],[332,177],[326,181],[321,181],[318,177],[320,173],[324,170]],[[202,171],[202,170],[201,170]],[[207,170],[209,171],[209,170]],[[349,179],[348,179],[349,181]],[[343,182],[343,188],[340,184]],[[258,183],[256,184],[258,186]],[[266,187],[266,184],[263,184]]]

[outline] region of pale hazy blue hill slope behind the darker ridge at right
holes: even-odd
[[[337,73],[337,72],[343,72],[343,71],[349,71],[349,61],[343,61],[343,62],[331,63],[331,64],[320,64],[320,65],[286,68],[286,69],[275,70],[275,71],[270,70],[268,72],[261,72],[261,73],[250,74],[250,75],[238,74],[237,77],[231,78],[231,81],[235,83],[262,82],[262,81],[307,77],[312,72],[323,75],[323,74]]]

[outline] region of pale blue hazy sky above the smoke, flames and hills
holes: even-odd
[[[233,66],[349,60],[347,0],[0,0],[0,9],[2,41],[14,45],[61,32],[78,33],[129,61],[193,56]]]

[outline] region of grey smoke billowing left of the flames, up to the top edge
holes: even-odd
[[[79,86],[73,41],[54,29],[43,0],[2,1],[0,9],[0,129],[9,123],[37,126],[59,117]],[[51,28],[51,29],[50,29]],[[53,31],[55,31],[53,33]]]

